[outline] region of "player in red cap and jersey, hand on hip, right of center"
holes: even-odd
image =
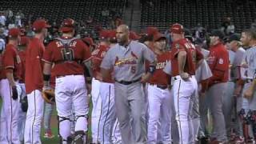
[[[176,121],[178,122],[179,143],[194,143],[190,106],[197,93],[198,84],[194,77],[196,63],[202,54],[184,38],[183,26],[175,23],[170,28],[173,41],[170,57],[173,78],[173,94]]]

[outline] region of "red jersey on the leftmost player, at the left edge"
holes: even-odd
[[[20,70],[22,62],[14,45],[6,45],[6,51],[3,54],[2,61],[5,72],[8,73],[9,70],[13,70],[14,80],[18,80],[21,77]]]

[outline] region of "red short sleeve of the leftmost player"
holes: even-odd
[[[8,48],[4,52],[3,66],[5,69],[14,69],[16,54],[15,51]]]

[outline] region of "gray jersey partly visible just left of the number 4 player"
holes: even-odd
[[[244,57],[245,53],[246,53],[246,50],[244,50],[242,47],[239,47],[234,54],[234,62],[231,66],[231,76],[234,79],[241,78],[240,66],[242,63],[242,58]]]

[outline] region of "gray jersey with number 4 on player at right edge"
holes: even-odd
[[[256,74],[256,46],[246,50],[246,54],[242,58],[242,64],[247,64],[248,68],[241,68],[241,76],[243,79],[255,78]]]

